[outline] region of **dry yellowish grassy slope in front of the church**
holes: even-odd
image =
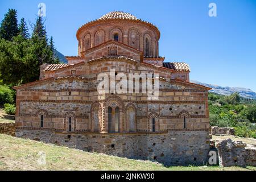
[[[170,167],[104,154],[93,154],[0,134],[0,170],[249,170],[248,168]],[[39,152],[46,165],[38,164]]]

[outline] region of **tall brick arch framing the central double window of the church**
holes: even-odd
[[[107,133],[109,131],[108,107],[112,107],[112,110],[114,110],[115,107],[119,107],[119,132],[121,133],[123,131],[123,109],[124,109],[122,99],[118,96],[110,96],[106,98],[104,102],[104,110],[105,110],[104,126],[105,126],[105,132]]]

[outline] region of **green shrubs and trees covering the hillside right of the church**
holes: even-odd
[[[211,126],[235,127],[237,136],[255,138],[256,126],[251,125],[256,118],[255,101],[241,98],[238,93],[209,93],[209,111]]]

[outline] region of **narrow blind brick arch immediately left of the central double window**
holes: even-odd
[[[94,118],[94,112],[97,112],[95,113],[98,117],[98,126],[97,126],[97,129],[95,129],[95,125],[94,125],[94,122],[95,122],[95,118]],[[90,123],[91,123],[91,131],[95,131],[95,132],[101,132],[101,128],[102,128],[102,123],[101,123],[101,105],[99,103],[94,103],[92,104],[92,106],[90,107]]]

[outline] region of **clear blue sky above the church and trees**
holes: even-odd
[[[256,91],[256,1],[1,0],[0,19],[13,8],[19,19],[34,23],[40,2],[47,8],[48,36],[64,55],[77,55],[76,31],[82,24],[125,11],[159,28],[159,55],[188,63],[191,80]],[[217,5],[217,17],[208,15],[211,2]]]

